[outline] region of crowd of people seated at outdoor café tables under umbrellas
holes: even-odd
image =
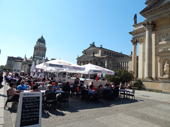
[[[48,93],[54,93],[56,90],[61,89],[54,76],[44,75],[43,78],[37,78],[29,75],[21,76],[18,73],[12,75],[6,73],[5,80],[9,84],[8,92],[10,99],[14,101],[18,101],[20,92],[24,92],[25,90],[29,90],[30,92],[40,92],[43,90],[45,91],[44,96],[46,96]],[[3,76],[2,73],[0,73],[0,84],[2,81]],[[106,98],[106,92],[107,96],[110,96],[110,98],[118,98],[119,88],[130,88],[130,84],[127,83],[126,86],[123,86],[122,83],[120,83],[118,86],[113,83],[107,83],[105,86],[99,85],[98,87],[95,87],[93,82],[91,82],[91,84],[84,84],[80,82],[79,78],[76,78],[73,83],[66,82],[62,85],[62,90],[70,93],[71,97],[73,94],[79,96],[83,90],[88,90],[89,97],[97,100]]]

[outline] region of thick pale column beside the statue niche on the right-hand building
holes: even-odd
[[[152,77],[152,22],[143,24],[146,28],[146,41],[145,41],[145,79]]]

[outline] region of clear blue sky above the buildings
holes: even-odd
[[[145,0],[0,0],[0,65],[7,56],[28,58],[37,39],[46,40],[46,57],[76,63],[93,41],[130,55],[133,17]]]

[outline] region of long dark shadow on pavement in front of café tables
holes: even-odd
[[[143,101],[143,100],[140,100]],[[139,102],[136,99],[122,99],[120,98],[119,100],[91,100],[91,101],[81,101],[81,98],[79,97],[72,97],[69,98],[69,106],[61,104],[61,107],[57,106],[57,109],[60,110],[61,112],[79,112],[79,110],[84,110],[84,109],[96,109],[96,108],[105,108],[105,107],[112,107],[112,106],[117,106],[117,105],[124,105],[124,104],[129,104],[129,103],[136,103]],[[56,109],[50,109],[50,113],[53,115],[61,115],[60,113],[58,114],[56,112]],[[56,113],[54,113],[56,112]],[[64,114],[64,113],[63,113]]]

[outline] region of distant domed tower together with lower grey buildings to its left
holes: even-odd
[[[38,38],[36,45],[34,46],[34,52],[33,56],[30,58],[27,58],[26,55],[24,58],[21,57],[11,57],[8,56],[6,67],[9,67],[14,72],[25,72],[29,73],[30,68],[32,66],[32,62],[36,63],[37,60],[39,60],[39,63],[41,63],[43,57],[45,58],[46,55],[46,43],[43,36]],[[48,58],[45,59],[45,61],[48,61]]]

